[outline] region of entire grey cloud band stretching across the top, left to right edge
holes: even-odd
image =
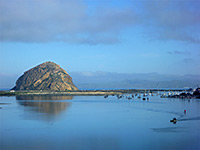
[[[0,0],[0,40],[114,44],[121,31],[137,24],[149,38],[200,44],[198,0],[132,0],[127,6],[101,5],[90,12],[92,2]]]

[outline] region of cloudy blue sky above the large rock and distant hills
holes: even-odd
[[[198,0],[0,0],[0,73],[200,74]],[[3,78],[1,76],[1,78]]]

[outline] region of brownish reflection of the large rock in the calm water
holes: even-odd
[[[29,108],[32,112],[43,113],[43,116],[53,117],[61,112],[67,110],[70,102],[59,102],[53,100],[71,100],[72,96],[16,96],[17,102]],[[43,100],[43,101],[30,101],[30,100]],[[50,100],[50,101],[49,101]],[[31,116],[34,116],[33,114]],[[41,116],[42,117],[42,116]]]

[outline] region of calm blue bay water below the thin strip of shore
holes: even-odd
[[[1,150],[200,149],[197,99],[18,96],[0,108]]]

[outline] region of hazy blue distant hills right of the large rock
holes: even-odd
[[[200,85],[200,75],[158,73],[71,72],[80,89],[189,88]]]

